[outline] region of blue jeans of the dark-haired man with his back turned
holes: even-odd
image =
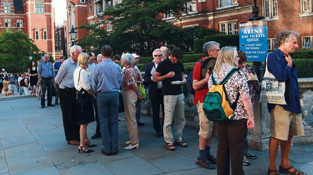
[[[118,131],[118,109],[119,93],[98,92],[97,106],[100,121],[100,131],[104,151],[107,153],[118,150],[119,131]]]

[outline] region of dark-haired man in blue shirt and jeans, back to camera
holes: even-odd
[[[101,48],[102,61],[94,67],[91,88],[97,94],[100,131],[105,155],[118,153],[118,90],[122,83],[121,67],[110,58],[112,47]]]

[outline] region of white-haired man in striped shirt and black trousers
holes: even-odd
[[[60,105],[62,110],[63,126],[68,144],[79,145],[80,125],[77,124],[76,89],[74,85],[74,71],[79,66],[78,55],[82,47],[73,45],[70,49],[71,57],[60,66],[56,82],[60,85]]]

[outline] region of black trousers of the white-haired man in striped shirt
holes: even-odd
[[[77,124],[76,89],[60,88],[59,98],[66,140],[79,138],[80,125]]]

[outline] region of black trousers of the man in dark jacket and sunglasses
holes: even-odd
[[[160,104],[162,107],[162,125],[160,123]],[[164,124],[164,98],[162,94],[162,88],[158,88],[156,91],[155,99],[151,99],[151,107],[153,128],[155,132],[161,132]]]

